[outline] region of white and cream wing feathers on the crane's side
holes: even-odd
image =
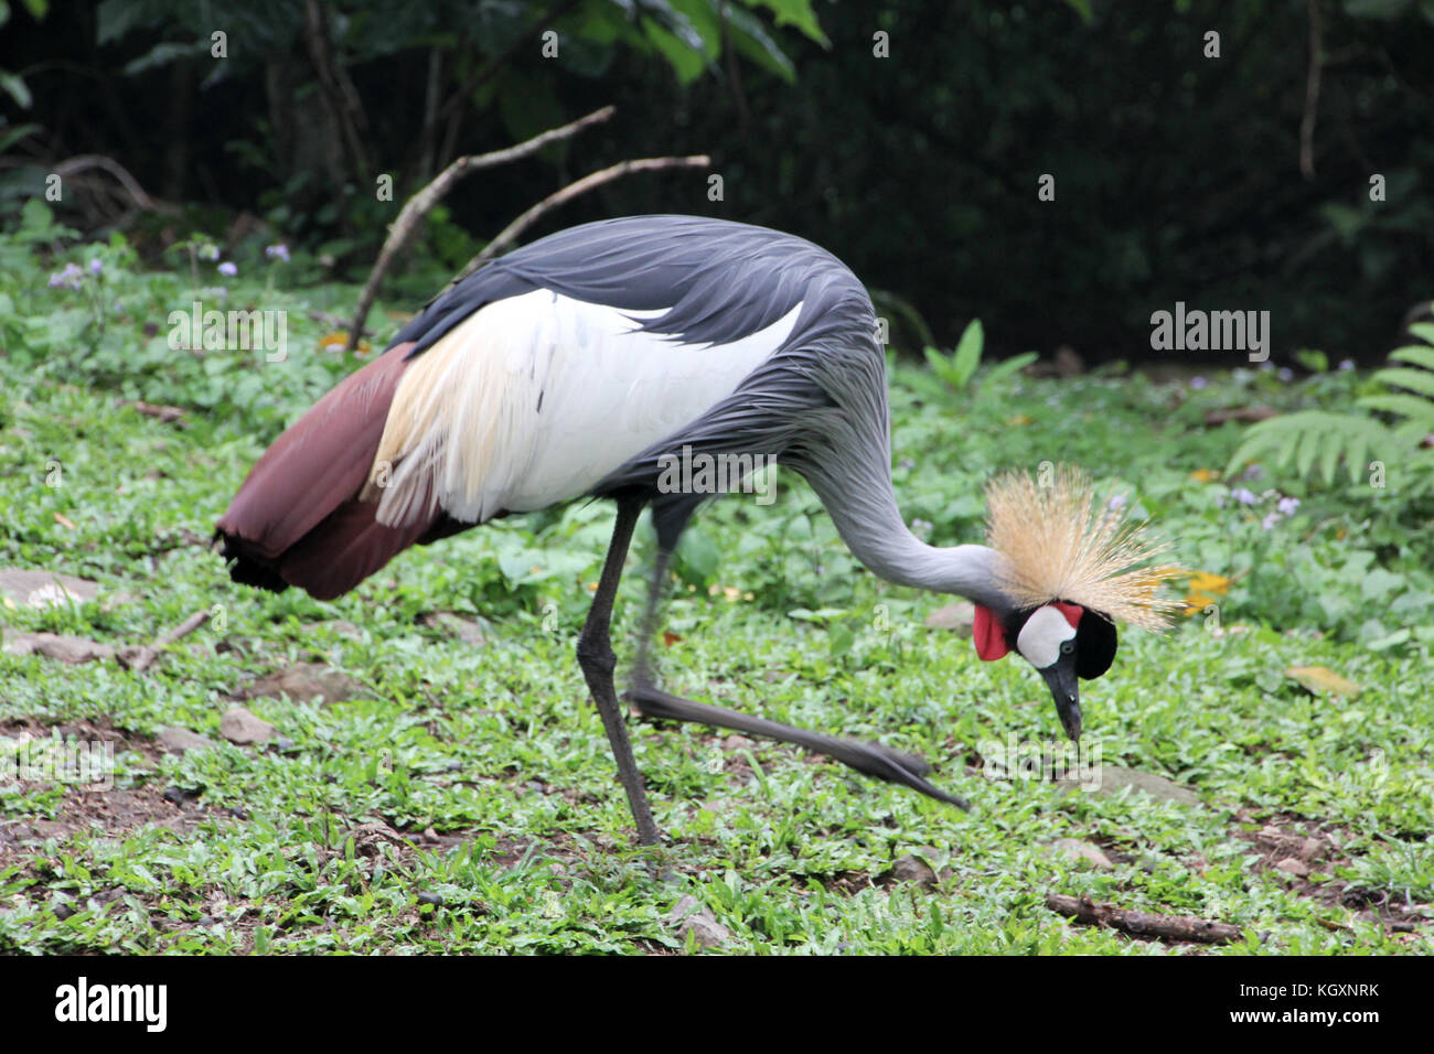
[[[588,492],[730,396],[802,311],[730,344],[644,333],[632,311],[533,290],[488,304],[407,367],[370,475],[377,519],[482,523]],[[371,490],[370,490],[371,493]]]

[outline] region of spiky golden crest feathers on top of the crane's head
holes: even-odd
[[[1061,599],[1143,630],[1166,628],[1179,605],[1156,592],[1180,569],[1139,565],[1169,546],[1127,519],[1126,502],[1097,506],[1081,469],[1060,466],[1043,483],[1030,472],[987,483],[987,543],[1005,559],[1002,588],[1020,607]]]

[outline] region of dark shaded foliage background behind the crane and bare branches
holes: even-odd
[[[103,153],[182,219],[76,201],[66,222],[151,248],[195,227],[262,229],[361,277],[403,199],[452,158],[612,102],[608,125],[460,184],[399,290],[422,295],[579,175],[707,152],[723,201],[693,172],[638,176],[536,232],[657,211],[767,224],[846,260],[901,344],[926,338],[905,301],[941,344],[981,317],[994,351],[1070,344],[1087,360],[1149,357],[1150,313],[1179,300],[1269,310],[1281,359],[1318,346],[1372,360],[1430,295],[1430,0],[4,10],[0,204],[13,215],[49,166]],[[558,57],[541,54],[548,27]],[[347,116],[326,100],[324,62]],[[373,199],[376,172],[394,174],[394,202]],[[1043,174],[1054,202],[1037,199]],[[1375,174],[1384,202],[1369,201]]]

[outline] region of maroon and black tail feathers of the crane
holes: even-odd
[[[410,523],[386,526],[374,519],[377,500],[358,498],[410,347],[391,347],[346,377],[264,452],[214,532],[229,578],[333,599],[410,545],[467,526],[436,502],[423,502],[426,515]]]

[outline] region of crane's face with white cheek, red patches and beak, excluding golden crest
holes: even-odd
[[[1035,667],[1055,700],[1061,727],[1080,740],[1080,687],[1110,670],[1116,658],[1116,624],[1080,604],[1054,601],[1014,611],[1004,619],[977,605],[977,654],[994,661],[1014,651]]]

